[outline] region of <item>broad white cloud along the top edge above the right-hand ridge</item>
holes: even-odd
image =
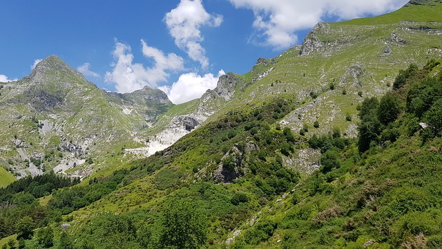
[[[253,27],[260,31],[263,44],[280,50],[294,46],[298,42],[296,31],[311,28],[324,17],[337,17],[343,20],[380,15],[397,10],[408,0],[229,1],[236,8],[253,10],[255,15]]]

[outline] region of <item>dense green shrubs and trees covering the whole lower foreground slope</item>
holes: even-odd
[[[1,189],[10,189],[15,206],[3,207],[0,219],[17,217],[1,237],[16,233],[22,248],[225,248],[241,230],[227,247],[441,248],[439,68],[433,60],[411,65],[392,92],[366,98],[358,139],[339,129],[309,139],[301,134],[307,127],[283,129],[278,121],[298,103],[276,99],[229,112],[130,169],[45,189],[52,193],[47,205],[35,201],[31,183],[15,183]],[[283,165],[307,147],[320,150],[321,166],[301,178]],[[128,193],[139,193],[128,198],[136,201],[131,210],[124,207]],[[20,207],[52,218],[37,222]],[[61,214],[84,207],[94,215],[61,231]]]

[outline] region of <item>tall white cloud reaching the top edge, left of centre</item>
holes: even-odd
[[[201,0],[181,0],[177,8],[164,17],[175,44],[203,68],[209,66],[206,50],[201,46],[204,37],[202,26],[218,27],[222,23],[221,15],[210,15],[204,10]]]

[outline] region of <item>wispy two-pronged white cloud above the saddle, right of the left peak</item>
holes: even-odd
[[[148,46],[144,40],[142,53],[145,57],[153,59],[152,67],[144,67],[143,64],[133,63],[131,46],[116,42],[113,57],[116,60],[112,64],[113,71],[106,72],[105,82],[115,84],[119,93],[128,93],[144,86],[155,88],[158,82],[165,82],[169,77],[167,71],[180,71],[184,69],[183,59],[174,53],[164,55],[161,50]]]

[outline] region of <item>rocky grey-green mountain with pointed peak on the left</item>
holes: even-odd
[[[125,94],[102,91],[55,55],[28,77],[1,86],[0,162],[19,177],[65,172],[88,158],[144,145],[146,127],[173,106],[148,86]],[[75,174],[90,174],[86,165]]]

